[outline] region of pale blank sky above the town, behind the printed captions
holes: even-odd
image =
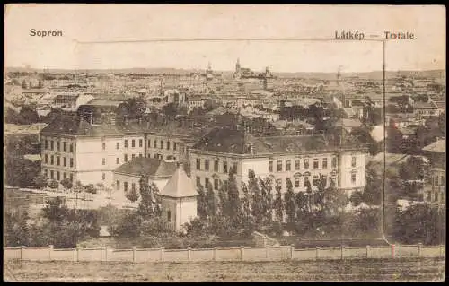
[[[416,39],[386,42],[387,70],[445,69],[445,7],[436,5],[8,4],[4,23],[4,63],[14,67],[204,69],[211,62],[233,70],[240,57],[258,71],[367,72],[383,68],[382,42],[144,40],[333,39],[341,30],[383,39],[391,30]],[[31,29],[64,36],[31,37]],[[135,40],[142,42],[118,42]]]

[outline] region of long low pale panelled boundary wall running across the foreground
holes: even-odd
[[[326,247],[297,249],[280,247],[214,247],[207,249],[111,249],[49,247],[6,247],[4,260],[27,261],[122,261],[180,262],[180,261],[275,261],[330,260],[357,258],[445,257],[445,246],[383,246],[383,247]]]

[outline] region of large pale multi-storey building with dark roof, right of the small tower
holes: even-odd
[[[309,181],[318,186],[320,175],[348,194],[365,187],[367,149],[357,143],[327,142],[323,136],[254,137],[245,130],[219,126],[190,149],[190,171],[195,185],[218,190],[236,169],[237,185],[247,182],[250,169],[257,177],[272,178],[286,190],[290,178],[295,192]]]

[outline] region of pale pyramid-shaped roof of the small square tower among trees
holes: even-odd
[[[187,176],[182,165],[180,165],[159,194],[179,198],[197,196],[198,192],[195,186],[193,186],[192,180]]]

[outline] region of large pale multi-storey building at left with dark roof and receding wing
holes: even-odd
[[[182,127],[94,125],[81,117],[57,117],[40,132],[41,169],[57,181],[113,186],[114,169],[136,157],[186,160],[195,136]]]

